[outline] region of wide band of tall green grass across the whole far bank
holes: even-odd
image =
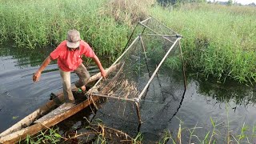
[[[30,3],[28,5],[27,3]],[[77,29],[99,55],[113,61],[124,49],[135,24],[152,15],[182,34],[187,69],[220,82],[256,82],[256,9],[206,2],[173,8],[151,1],[9,1],[0,5],[0,42],[20,47],[58,45]]]

